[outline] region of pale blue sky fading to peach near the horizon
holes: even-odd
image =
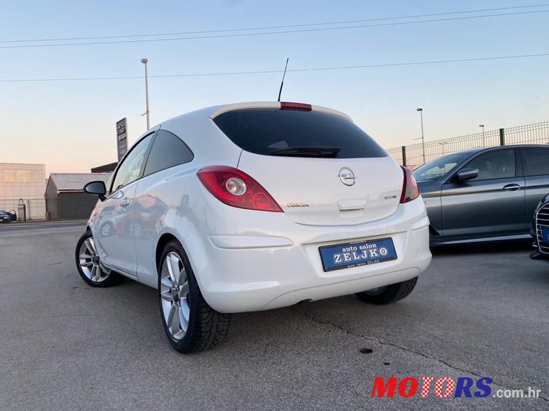
[[[539,6],[514,8],[524,5]],[[549,119],[549,55],[372,67],[548,54],[543,1],[30,0],[1,8],[0,162],[46,164],[47,173],[114,162],[123,117],[130,142],[145,132],[141,58],[149,60],[152,125],[209,105],[276,100],[287,57],[290,70],[371,66],[289,71],[283,100],[346,112],[385,148],[421,135],[418,107],[425,140],[475,133],[480,123],[489,130]],[[425,14],[439,15],[414,17]],[[295,27],[257,29],[273,26]],[[166,38],[187,39],[157,41]],[[111,43],[49,47],[75,42]],[[154,77],[250,71],[270,73]],[[67,80],[97,77],[137,78]],[[29,79],[65,80],[21,81]]]

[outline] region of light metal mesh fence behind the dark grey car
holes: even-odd
[[[425,142],[425,162],[458,151],[512,144],[549,145],[549,121],[427,141]],[[421,142],[388,149],[387,152],[397,163],[409,169],[416,169],[423,164],[423,145]]]

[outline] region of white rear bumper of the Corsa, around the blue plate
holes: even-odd
[[[256,229],[206,238],[194,232],[185,238],[202,295],[215,310],[269,310],[349,295],[417,277],[431,261],[421,197],[399,206],[388,219],[353,227],[311,227],[284,223],[283,214],[271,217],[279,223],[263,235]],[[393,238],[397,260],[323,270],[318,247],[384,237]]]

